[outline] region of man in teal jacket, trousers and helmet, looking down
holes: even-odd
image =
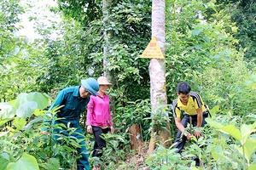
[[[79,126],[80,114],[84,112],[85,106],[90,101],[90,95],[96,96],[99,89],[99,83],[94,78],[87,78],[81,80],[81,85],[77,87],[65,88],[57,95],[55,102],[50,106],[49,110],[52,110],[56,106],[61,106],[59,111],[56,113],[54,124],[64,124],[66,127],[76,128],[75,132],[71,135],[76,139],[79,139],[79,154],[81,157],[77,160],[78,170],[89,170],[89,156],[86,153],[87,148],[85,146],[85,138],[82,128]],[[60,119],[59,119],[60,118]],[[69,135],[67,129],[55,128],[54,134],[55,139],[61,142],[58,134]],[[80,141],[80,139],[82,139]]]

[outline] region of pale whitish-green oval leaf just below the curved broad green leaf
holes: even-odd
[[[32,116],[33,111],[35,111],[37,107],[38,107],[37,102],[27,101],[26,103],[20,105],[16,114],[17,116],[23,117],[23,118],[30,117]]]

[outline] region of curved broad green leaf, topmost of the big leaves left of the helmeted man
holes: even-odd
[[[44,110],[49,105],[49,99],[41,93],[32,92],[27,94],[26,99],[28,101],[35,101],[38,103],[38,109]]]

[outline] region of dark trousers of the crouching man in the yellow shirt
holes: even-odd
[[[204,115],[204,114],[203,114]],[[183,127],[187,127],[189,122],[189,117],[192,118],[192,126],[196,127],[197,125],[197,115],[195,116],[189,116],[187,114],[183,114],[183,119],[181,121],[181,123],[183,124]],[[201,127],[204,127],[205,124],[207,124],[206,120],[205,120],[205,116],[202,116],[202,122],[201,122]],[[181,153],[181,151],[183,150],[184,144],[186,143],[187,137],[185,135],[183,135],[183,137],[181,137],[182,132],[181,131],[177,131],[177,135],[176,135],[176,139],[174,141],[174,143],[177,143],[174,145],[173,148],[177,148],[176,152],[177,153]]]

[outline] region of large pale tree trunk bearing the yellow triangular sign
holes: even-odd
[[[157,42],[160,45],[161,52],[165,56],[165,0],[153,0],[152,2],[152,37],[156,37]],[[152,114],[160,110],[161,116],[168,116],[167,109],[167,96],[166,96],[166,65],[165,59],[151,59],[149,64],[150,75],[150,99],[152,105]],[[154,122],[154,120],[152,120]],[[171,138],[171,131],[169,122],[166,122],[167,126],[164,128],[155,129],[151,131],[151,139],[148,145],[148,154],[152,154],[154,151],[155,143],[159,142],[165,146],[170,145],[169,142],[164,143],[167,139]],[[157,132],[160,130],[160,132]]]

